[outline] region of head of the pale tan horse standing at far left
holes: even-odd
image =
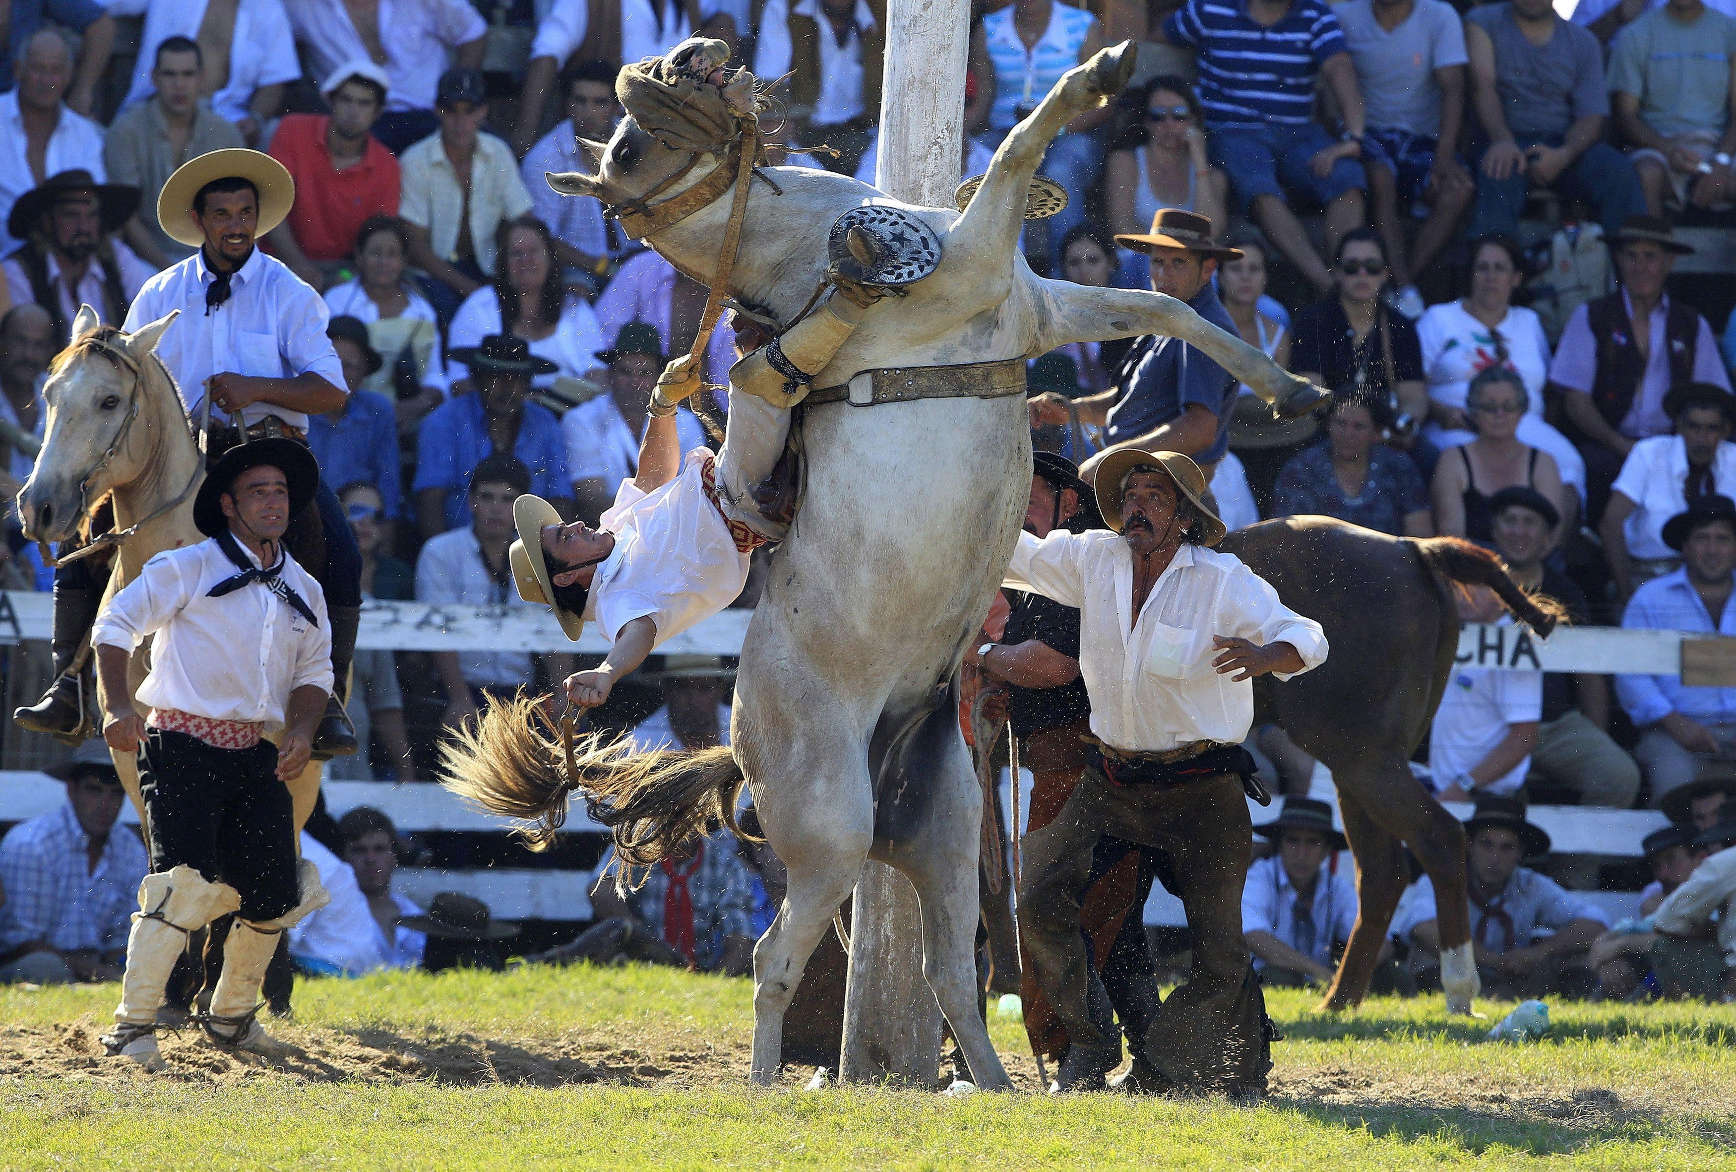
[[[104,493],[146,472],[155,443],[146,434],[153,424],[135,422],[148,406],[142,372],[174,319],[128,335],[104,326],[90,306],[78,309],[75,340],[49,366],[42,392],[49,427],[17,498],[24,537],[64,542]]]

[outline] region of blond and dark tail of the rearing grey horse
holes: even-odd
[[[458,797],[533,823],[519,830],[533,851],[554,842],[573,792],[609,828],[623,866],[651,866],[719,826],[743,835],[736,797],[746,778],[729,748],[635,754],[630,736],[592,733],[573,747],[569,776],[557,724],[523,691],[444,741],[441,766],[441,785]]]

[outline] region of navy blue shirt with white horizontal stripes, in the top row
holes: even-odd
[[[1187,0],[1163,36],[1200,50],[1200,104],[1212,130],[1312,122],[1319,66],[1349,52],[1323,0],[1292,0],[1271,26],[1248,16],[1246,0]]]

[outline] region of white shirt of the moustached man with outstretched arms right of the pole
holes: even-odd
[[[1123,752],[1246,740],[1253,681],[1217,674],[1212,635],[1288,642],[1304,672],[1326,662],[1319,623],[1279,602],[1278,590],[1241,559],[1198,545],[1175,550],[1137,616],[1134,554],[1108,530],[1057,530],[1042,540],[1019,533],[1005,585],[1080,609],[1090,731]]]

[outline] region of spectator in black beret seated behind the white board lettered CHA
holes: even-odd
[[[1575,625],[1590,622],[1590,604],[1573,578],[1543,557],[1554,547],[1561,512],[1535,488],[1503,488],[1489,498],[1495,552],[1529,594],[1561,602]],[[1609,740],[1609,684],[1602,675],[1543,674],[1543,712],[1531,773],[1576,790],[1585,806],[1628,809],[1639,793],[1639,766]],[[1595,873],[1588,875],[1595,884]]]

